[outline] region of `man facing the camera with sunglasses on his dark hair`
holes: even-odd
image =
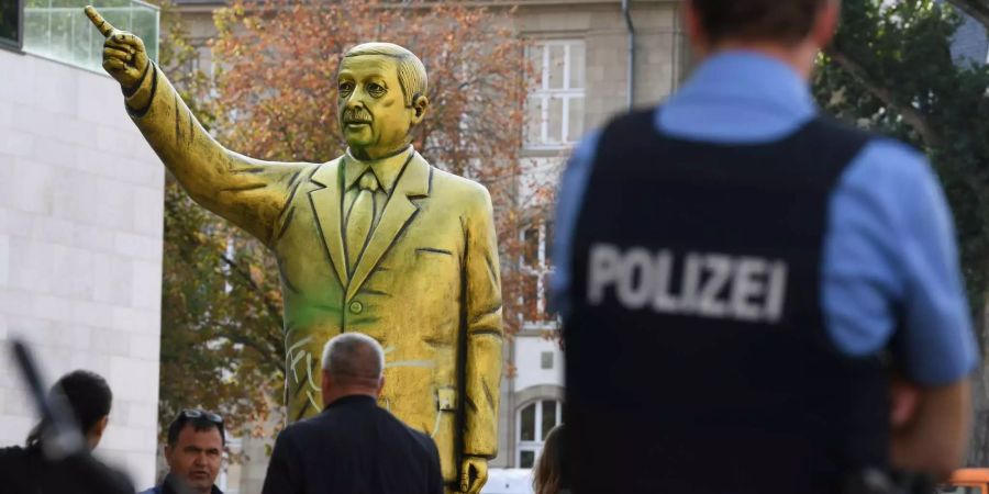
[[[222,417],[184,409],[168,426],[168,474],[162,484],[141,494],[223,494],[213,482],[220,473],[225,444]]]

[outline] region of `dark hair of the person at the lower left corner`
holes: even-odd
[[[103,417],[110,415],[113,393],[107,380],[90,371],[77,370],[62,377],[48,391],[48,396],[62,393],[73,411],[73,417],[84,435],[92,430]],[[27,446],[37,446],[45,423],[41,423],[27,436]]]

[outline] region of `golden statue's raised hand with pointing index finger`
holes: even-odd
[[[103,42],[103,70],[124,89],[136,88],[151,66],[144,42],[133,33],[113,27],[92,5],[86,5],[85,10],[86,16],[107,38]]]

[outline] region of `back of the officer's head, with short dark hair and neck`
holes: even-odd
[[[701,57],[753,49],[809,74],[834,36],[838,11],[838,0],[687,0],[687,32]]]

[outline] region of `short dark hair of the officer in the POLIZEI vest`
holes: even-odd
[[[724,40],[796,44],[814,20],[838,0],[692,0],[698,20],[712,43]]]

